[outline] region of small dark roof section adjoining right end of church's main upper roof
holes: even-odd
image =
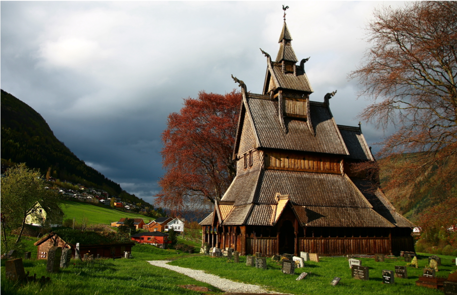
[[[338,129],[349,151],[349,155],[345,156],[346,158],[364,161],[375,160],[360,128],[338,125]]]

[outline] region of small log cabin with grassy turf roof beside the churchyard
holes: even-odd
[[[59,233],[51,232],[34,243],[38,246],[38,259],[47,259],[51,247],[62,247],[71,249],[75,255],[76,243],[79,242],[79,255],[84,254],[100,257],[119,257],[124,251],[131,252],[135,245],[129,238],[120,238],[115,233],[100,234],[96,232],[79,232],[76,230],[63,230]]]

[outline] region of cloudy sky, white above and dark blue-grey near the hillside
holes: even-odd
[[[338,124],[367,105],[348,81],[369,46],[373,10],[399,1],[0,2],[0,88],[38,111],[86,164],[154,202],[160,133],[182,99],[231,92],[234,74],[262,91],[278,52],[282,4],[298,60]],[[384,136],[362,123],[369,145]]]

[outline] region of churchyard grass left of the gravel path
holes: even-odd
[[[32,242],[32,241],[30,241]],[[27,242],[29,243],[29,241]],[[36,247],[35,247],[36,248]],[[133,259],[95,259],[81,262],[72,259],[71,265],[58,274],[46,272],[46,260],[24,260],[25,271],[37,277],[51,277],[49,284],[15,285],[5,278],[5,260],[0,260],[0,294],[11,295],[199,295],[200,292],[182,289],[177,285],[197,285],[217,291],[206,283],[194,280],[174,271],[152,266],[147,260],[174,259],[182,257],[176,250],[162,250],[150,245],[135,245]],[[36,257],[32,254],[32,257]],[[209,292],[206,294],[215,294]]]

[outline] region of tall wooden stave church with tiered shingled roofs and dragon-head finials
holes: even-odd
[[[233,158],[237,176],[200,222],[202,243],[243,254],[320,255],[414,251],[414,225],[351,164],[375,161],[360,126],[337,125],[313,92],[284,21],[262,94],[241,87]]]

